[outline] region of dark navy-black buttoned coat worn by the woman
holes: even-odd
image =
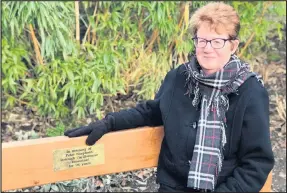
[[[113,116],[113,130],[164,126],[157,182],[171,187],[186,187],[199,118],[193,95],[185,95],[184,70],[180,65],[168,72],[154,100],[108,114]],[[228,97],[227,143],[215,191],[259,192],[274,166],[268,93],[251,77]]]

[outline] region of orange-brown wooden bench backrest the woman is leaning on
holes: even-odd
[[[144,127],[108,133],[93,150],[85,145],[86,136],[3,143],[2,191],[155,167],[162,137],[162,127]],[[67,165],[68,159],[74,163]],[[261,192],[271,192],[271,183],[270,173]]]

